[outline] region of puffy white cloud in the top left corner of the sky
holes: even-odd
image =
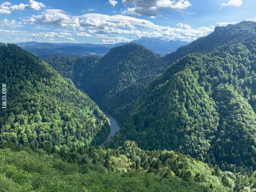
[[[29,0],[27,4],[20,3],[18,5],[6,1],[0,4],[0,14],[10,14],[12,11],[19,11],[19,10],[40,10],[41,8],[45,8],[46,6],[43,3]]]

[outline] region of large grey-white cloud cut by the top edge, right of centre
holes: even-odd
[[[128,7],[125,14],[161,16],[161,11],[181,11],[192,4],[188,0],[122,0]]]

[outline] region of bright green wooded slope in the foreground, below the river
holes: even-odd
[[[144,151],[130,141],[116,150],[1,148],[1,191],[226,192],[256,187],[256,172],[247,168],[223,172],[218,165],[209,167],[173,151]]]

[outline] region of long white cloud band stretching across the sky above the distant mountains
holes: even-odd
[[[72,17],[64,13],[40,14],[33,15],[31,18],[23,20],[30,24],[41,24],[61,26],[65,32],[74,34],[80,37],[105,37],[107,35],[124,36],[125,38],[141,38],[141,37],[158,37],[166,40],[183,40],[193,41],[198,37],[204,36],[213,32],[213,26],[199,27],[193,29],[187,24],[179,23],[174,27],[156,25],[146,19],[138,19],[126,15],[103,15],[98,13],[87,13],[79,17]],[[41,27],[39,27],[41,28]],[[68,28],[73,28],[73,31],[68,31]],[[42,28],[44,29],[44,28]],[[77,29],[80,31],[78,32]],[[31,34],[31,37],[38,38],[53,38],[59,34]],[[104,36],[105,35],[105,36]],[[116,43],[120,38],[113,39],[105,37],[105,41],[101,43]]]

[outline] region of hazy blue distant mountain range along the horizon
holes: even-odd
[[[164,41],[158,38],[141,38],[139,40],[133,40],[129,43],[137,43],[151,49],[153,52],[160,55],[166,55],[167,53],[174,52],[181,46],[189,44],[186,41]],[[111,48],[120,46],[127,43],[116,44],[90,44],[90,43],[39,43],[35,41],[16,43],[25,50],[37,55],[41,59],[49,58],[54,55],[105,55]]]

